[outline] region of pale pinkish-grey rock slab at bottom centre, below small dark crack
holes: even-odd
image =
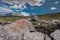
[[[33,32],[24,35],[24,40],[51,40],[46,34]]]

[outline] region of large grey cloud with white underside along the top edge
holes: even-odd
[[[19,3],[21,5],[28,2],[30,5],[34,6],[41,6],[43,3],[45,3],[45,0],[3,0],[4,2],[10,2],[10,3]]]

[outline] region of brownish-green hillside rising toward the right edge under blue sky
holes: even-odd
[[[50,19],[60,20],[60,13],[51,13],[51,14],[40,15],[39,18],[42,20],[50,20]]]

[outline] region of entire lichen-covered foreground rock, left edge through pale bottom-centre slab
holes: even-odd
[[[47,35],[36,32],[32,23],[27,19],[0,27],[0,40],[44,40],[44,38],[50,40]]]

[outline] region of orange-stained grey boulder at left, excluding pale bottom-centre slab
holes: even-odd
[[[26,19],[0,27],[0,40],[22,40],[26,31],[35,30],[33,25]]]

